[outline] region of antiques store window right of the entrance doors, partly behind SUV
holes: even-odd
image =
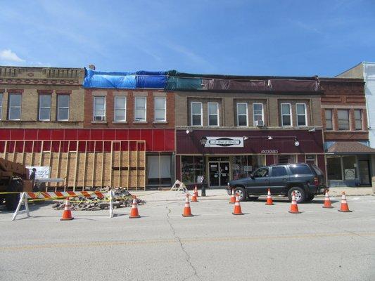
[[[265,165],[265,155],[238,155],[232,157],[231,171],[234,180],[247,178],[250,174]]]

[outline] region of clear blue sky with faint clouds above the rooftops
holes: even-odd
[[[374,0],[0,0],[0,65],[329,77],[361,61]]]

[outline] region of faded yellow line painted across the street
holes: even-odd
[[[322,237],[348,237],[348,236],[374,236],[375,233],[317,233],[317,234],[301,234],[301,235],[278,235],[278,236],[244,236],[244,237],[196,237],[182,238],[182,243],[196,242],[241,242],[256,240],[283,240],[283,239],[310,239]],[[0,247],[0,251],[23,251],[34,249],[56,249],[56,248],[90,248],[90,247],[108,247],[108,246],[128,246],[143,244],[172,244],[177,243],[175,239],[160,240],[135,240],[135,241],[98,241],[98,242],[82,242],[82,243],[56,243],[56,244],[37,244]]]

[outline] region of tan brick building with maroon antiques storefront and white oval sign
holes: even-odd
[[[180,75],[176,177],[185,184],[205,175],[208,186],[222,187],[266,164],[325,169],[317,77]]]

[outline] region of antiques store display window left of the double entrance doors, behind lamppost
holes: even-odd
[[[201,156],[181,157],[181,178],[184,184],[197,183],[198,177],[203,176],[203,161]]]

